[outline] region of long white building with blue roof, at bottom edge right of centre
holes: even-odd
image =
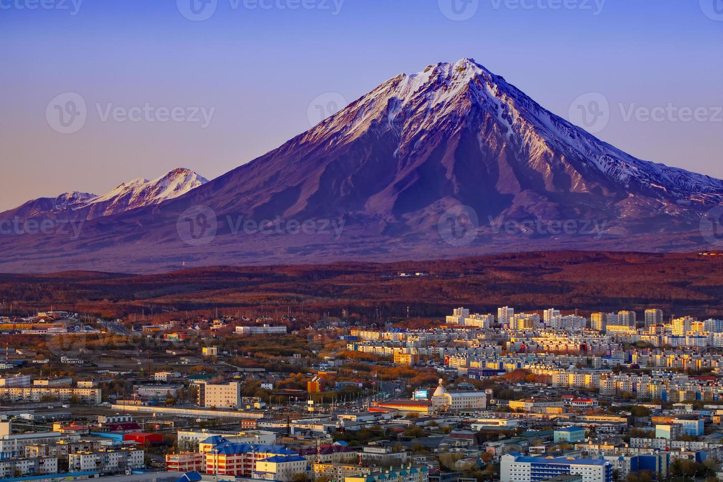
[[[582,475],[583,482],[612,482],[612,464],[602,459],[527,457],[519,452],[500,457],[502,482],[542,482],[568,474]]]

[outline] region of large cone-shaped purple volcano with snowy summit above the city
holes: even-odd
[[[278,149],[90,220],[77,239],[4,240],[0,269],[694,250],[702,213],[722,202],[723,181],[633,158],[462,59],[393,77]]]

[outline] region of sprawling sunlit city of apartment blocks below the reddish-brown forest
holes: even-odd
[[[722,321],[503,306],[424,324],[6,317],[0,480],[719,474]]]

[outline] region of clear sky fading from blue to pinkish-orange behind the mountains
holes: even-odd
[[[0,0],[0,210],[180,166],[213,178],[309,129],[319,95],[351,101],[464,56],[565,118],[578,96],[600,92],[610,111],[598,137],[723,178],[720,0],[607,0],[602,10],[602,0],[471,0],[479,6],[463,21],[445,17],[452,0],[344,0],[338,12],[341,0],[218,0],[203,21],[181,14],[189,0],[85,0],[75,14],[72,0],[43,1],[54,8]],[[544,8],[565,1],[575,8]],[[46,120],[64,92],[87,103],[73,134]],[[96,103],[215,111],[202,128],[103,121]],[[631,107],[668,105],[705,111],[697,121],[625,120]]]

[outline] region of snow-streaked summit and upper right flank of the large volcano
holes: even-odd
[[[496,124],[489,129],[486,119]],[[369,130],[398,139],[395,158],[423,149],[430,137],[451,137],[459,129],[479,134],[480,150],[499,145],[549,172],[560,158],[574,171],[596,172],[622,189],[636,186],[658,198],[702,194],[706,204],[723,200],[723,181],[680,168],[633,158],[566,119],[547,111],[474,59],[427,66],[398,74],[303,134],[304,142],[351,142]],[[482,134],[484,131],[484,134]],[[589,189],[581,176],[571,189]]]

